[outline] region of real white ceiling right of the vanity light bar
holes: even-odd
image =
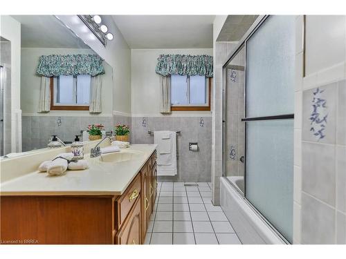
[[[215,15],[113,15],[130,48],[212,48]]]

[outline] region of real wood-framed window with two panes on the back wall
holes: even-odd
[[[171,110],[210,111],[210,84],[200,75],[171,75]]]

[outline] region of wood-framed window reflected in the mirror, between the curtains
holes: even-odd
[[[90,75],[51,78],[51,110],[89,110]]]

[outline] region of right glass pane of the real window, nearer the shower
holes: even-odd
[[[190,104],[206,104],[206,77],[190,77]]]

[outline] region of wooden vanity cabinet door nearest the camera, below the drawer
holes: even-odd
[[[140,200],[136,200],[134,208],[129,214],[128,220],[116,235],[117,244],[142,244],[140,231]]]

